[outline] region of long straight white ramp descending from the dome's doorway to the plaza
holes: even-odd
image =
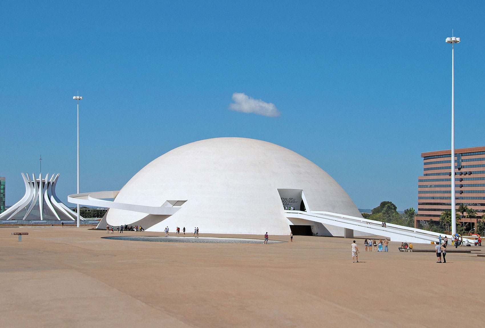
[[[440,235],[436,232],[416,229],[398,224],[387,223],[387,227],[383,227],[381,226],[382,222],[379,221],[331,212],[285,210],[285,213],[286,217],[290,221],[291,218],[296,218],[312,222],[319,222],[321,224],[330,224],[341,228],[369,233],[375,236],[388,237],[392,241],[429,244],[431,241],[436,242]],[[453,239],[452,236],[441,234],[442,238],[445,236],[448,237],[451,243],[451,240]]]

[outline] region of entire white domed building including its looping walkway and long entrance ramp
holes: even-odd
[[[114,198],[114,201],[108,201]],[[68,201],[109,208],[98,228],[138,225],[162,232],[384,236],[435,242],[438,233],[364,219],[349,195],[305,157],[247,138],[215,138],[173,149],[120,191],[73,194]],[[444,235],[443,235],[444,236]],[[448,238],[452,238],[448,236]]]

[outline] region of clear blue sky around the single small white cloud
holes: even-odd
[[[100,3],[102,2],[102,3]],[[359,208],[417,207],[420,153],[484,146],[481,1],[16,1],[0,11],[0,176],[61,173],[76,192],[119,190],[196,140],[239,136],[318,164]],[[423,3],[424,2],[424,3]],[[462,1],[465,2],[465,1]],[[232,94],[278,117],[229,110]]]

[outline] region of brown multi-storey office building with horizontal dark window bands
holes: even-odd
[[[451,149],[421,153],[424,169],[418,178],[415,227],[423,224],[420,221],[438,221],[443,211],[451,210],[451,153]],[[474,218],[465,217],[457,222],[465,223],[468,230],[485,214],[485,147],[455,149],[454,177],[456,212],[459,213],[461,204],[477,211]]]

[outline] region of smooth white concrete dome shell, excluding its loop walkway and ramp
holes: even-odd
[[[361,217],[339,184],[303,156],[261,140],[215,138],[155,159],[114,200],[153,207],[167,200],[186,200],[175,214],[112,208],[106,221],[115,226],[138,222],[147,231],[168,226],[173,232],[179,226],[188,232],[199,227],[201,233],[288,235],[291,222],[282,197],[298,191],[303,191],[299,199],[303,197],[312,211]]]

